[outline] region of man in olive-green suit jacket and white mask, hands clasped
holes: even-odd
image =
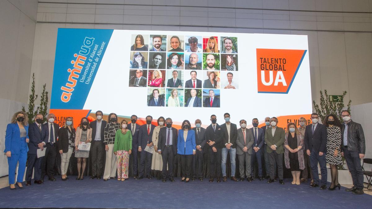
[[[283,153],[284,153],[284,129],[276,126],[278,124],[278,118],[272,117],[270,119],[270,128],[266,128],[265,142],[267,144],[266,151],[269,154],[269,164],[270,164],[270,179],[267,183],[274,182],[274,170],[276,169],[274,164],[278,166],[278,177],[279,183],[283,182]]]

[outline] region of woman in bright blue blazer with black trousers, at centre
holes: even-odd
[[[177,154],[181,158],[182,179],[189,182],[191,176],[192,155],[195,155],[195,131],[191,130],[190,122],[184,120],[182,129],[178,130]]]

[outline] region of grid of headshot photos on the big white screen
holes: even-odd
[[[221,89],[239,88],[237,37],[132,34],[130,50],[129,87],[147,88],[147,106],[220,107]]]

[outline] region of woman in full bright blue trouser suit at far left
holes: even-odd
[[[22,181],[26,169],[28,142],[29,138],[27,114],[25,112],[16,112],[13,115],[12,121],[10,121],[10,123],[6,127],[5,134],[4,152],[6,152],[6,157],[8,157],[9,186],[11,190],[16,189],[15,173],[18,162],[19,165],[17,172],[17,186],[20,189],[23,189]]]

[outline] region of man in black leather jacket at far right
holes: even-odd
[[[362,125],[354,122],[348,110],[341,112],[344,121],[341,129],[341,155],[345,157],[347,167],[353,177],[354,186],[346,189],[353,194],[364,194],[363,192],[363,169],[360,159],[364,158],[366,141]]]

